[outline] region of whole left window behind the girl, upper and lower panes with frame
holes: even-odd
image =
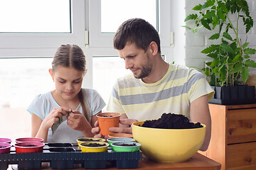
[[[37,9],[31,11],[33,8]],[[53,20],[50,21],[47,15],[53,9],[54,13],[50,14]],[[58,16],[60,13],[61,17]],[[28,22],[23,17],[31,18]],[[47,18],[44,28],[38,26],[40,22],[36,23],[43,19],[40,17]],[[22,24],[17,25],[21,20]],[[10,27],[3,26],[6,24]],[[37,27],[33,28],[33,25]],[[61,28],[53,29],[53,25],[61,25]],[[15,140],[31,136],[31,116],[26,108],[33,98],[54,89],[48,69],[57,47],[63,43],[85,46],[85,1],[1,1],[0,32],[0,128],[4,129],[1,137]]]

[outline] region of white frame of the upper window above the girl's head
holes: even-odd
[[[65,43],[85,47],[85,0],[71,0],[72,33],[0,33],[0,57],[53,56]]]

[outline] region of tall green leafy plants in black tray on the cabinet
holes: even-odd
[[[239,22],[242,21],[245,32],[253,26],[247,1],[245,0],[208,0],[193,8],[195,13],[188,15],[185,22],[193,22],[193,27],[186,28],[198,33],[198,29],[204,27],[215,30],[209,40],[216,40],[219,44],[206,47],[201,53],[212,58],[212,62],[206,62],[207,67],[201,69],[206,75],[210,85],[235,86],[245,84],[250,76],[249,67],[256,68],[256,63],[250,60],[256,50],[248,47],[239,37]],[[232,22],[230,18],[236,17]],[[240,28],[241,29],[241,28]],[[241,81],[242,79],[242,81]]]

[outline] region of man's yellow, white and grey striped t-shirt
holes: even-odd
[[[170,64],[166,75],[154,84],[146,84],[133,74],[117,79],[107,111],[126,113],[128,118],[158,119],[163,113],[185,115],[190,119],[191,102],[214,91],[201,72]]]

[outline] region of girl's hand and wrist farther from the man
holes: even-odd
[[[71,111],[71,108],[53,108],[53,111],[51,111],[43,120],[43,128],[48,130],[53,123],[58,122],[63,115],[66,115],[67,111]]]

